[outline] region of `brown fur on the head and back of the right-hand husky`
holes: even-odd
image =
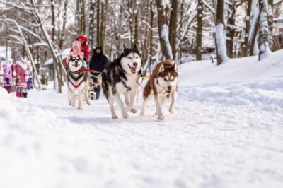
[[[160,66],[164,65],[164,71],[159,72]],[[147,81],[146,86],[144,88],[144,98],[147,98],[151,94],[151,90],[154,91],[154,94],[157,94],[156,91],[156,86],[154,84],[154,79],[160,77],[165,77],[168,75],[168,73],[174,77],[178,77],[178,72],[175,71],[174,69],[174,64],[170,60],[164,60],[164,61],[159,61],[156,67],[154,68],[154,71],[152,71],[152,74],[149,78],[149,81]]]

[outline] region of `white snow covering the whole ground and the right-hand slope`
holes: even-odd
[[[164,122],[153,101],[112,120],[104,97],[0,88],[0,187],[283,187],[283,51],[179,71]]]

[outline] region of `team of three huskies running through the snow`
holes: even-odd
[[[75,91],[77,91],[79,96],[78,109],[82,109],[83,97],[86,103],[90,104],[88,99],[89,71],[84,64],[85,62],[79,55],[76,57],[71,56],[68,61],[67,86],[69,105],[75,106]],[[134,102],[137,97],[137,91],[142,87],[141,66],[141,54],[139,54],[136,45],[134,45],[132,48],[124,47],[120,57],[108,64],[103,71],[103,93],[109,102],[113,119],[117,119],[114,102],[117,102],[119,105],[122,117],[125,119],[129,117],[129,112],[137,112],[134,108]],[[158,119],[164,119],[162,107],[168,101],[171,102],[169,112],[173,113],[177,98],[177,81],[178,71],[175,61],[160,61],[144,87],[144,102],[140,114],[144,115],[146,104],[151,98],[154,98]],[[121,98],[122,95],[124,95],[124,100]]]

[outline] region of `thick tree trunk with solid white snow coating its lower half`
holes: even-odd
[[[227,61],[226,44],[224,40],[224,1],[217,0],[216,12],[216,52],[217,52],[217,65]]]

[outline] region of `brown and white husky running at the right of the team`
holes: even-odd
[[[171,99],[169,112],[175,111],[177,99],[177,64],[171,60],[160,61],[152,72],[149,81],[144,88],[144,103],[141,108],[141,115],[144,115],[147,102],[154,96],[156,103],[156,115],[159,120],[164,119],[162,105]]]

